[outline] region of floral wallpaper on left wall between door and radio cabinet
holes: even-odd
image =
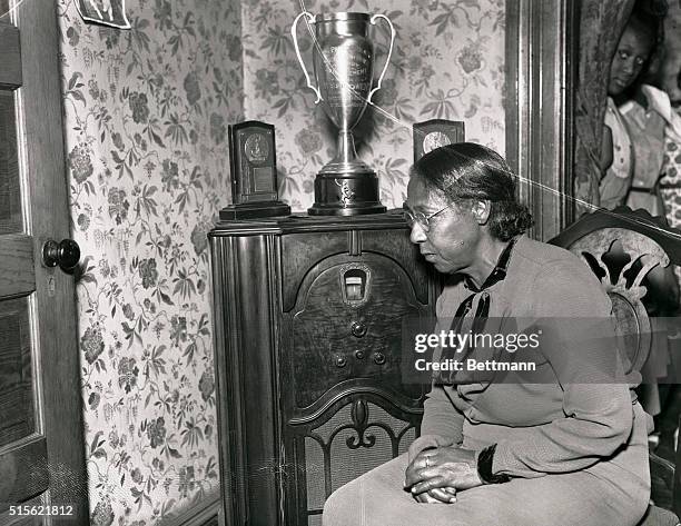
[[[219,489],[206,232],[243,119],[238,2],[126,4],[130,31],[57,2],[96,526]]]

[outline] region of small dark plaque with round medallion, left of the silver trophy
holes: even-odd
[[[229,125],[231,202],[220,210],[220,219],[256,219],[290,215],[279,201],[273,125],[248,120]]]

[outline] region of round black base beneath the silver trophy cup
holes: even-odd
[[[383,214],[386,208],[378,199],[378,178],[364,173],[317,173],[315,204],[310,216],[362,216]]]

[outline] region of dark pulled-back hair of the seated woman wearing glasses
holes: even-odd
[[[533,221],[527,207],[515,198],[515,175],[494,150],[473,142],[436,148],[418,159],[409,171],[426,188],[461,205],[477,199],[491,202],[490,234],[507,241]]]

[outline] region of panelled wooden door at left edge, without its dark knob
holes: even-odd
[[[18,3],[14,9],[13,3]],[[0,525],[88,524],[53,0],[0,0]],[[21,505],[17,507],[17,505]]]

